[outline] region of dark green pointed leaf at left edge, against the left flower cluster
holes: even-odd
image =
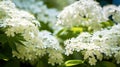
[[[11,37],[11,36],[7,36],[4,33],[4,30],[5,29],[0,28],[0,43],[1,43],[0,45],[1,45],[1,47],[4,47],[6,44],[8,44],[8,47],[10,47],[11,49],[18,52],[17,48],[16,48],[16,44],[25,46],[23,41],[26,41],[26,40],[24,39],[24,37],[21,34],[16,34],[14,37]]]

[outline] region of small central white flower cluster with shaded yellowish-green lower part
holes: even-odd
[[[61,64],[63,62],[63,56],[61,52],[63,52],[62,48],[59,45],[57,38],[52,36],[52,34],[48,31],[41,31],[39,36],[44,44],[44,48],[46,48],[46,53],[49,54],[49,63],[54,65],[54,63]]]

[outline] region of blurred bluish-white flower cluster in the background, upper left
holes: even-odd
[[[42,21],[44,23],[48,23],[48,25],[56,30],[58,26],[56,26],[57,15],[59,11],[53,8],[47,8],[46,5],[43,4],[43,1],[36,0],[13,0],[16,6],[21,9],[27,10],[33,13],[37,20]]]

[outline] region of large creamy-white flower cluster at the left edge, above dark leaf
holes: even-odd
[[[5,34],[8,37],[17,36],[16,34],[21,34],[25,39],[24,44],[16,44],[16,51],[12,51],[13,56],[18,57],[22,60],[35,60],[37,58],[36,52],[40,52],[41,55],[44,55],[44,50],[36,49],[36,46],[42,48],[42,42],[39,38],[39,22],[34,18],[33,15],[28,12],[19,10],[16,8],[14,3],[10,0],[0,1],[0,8],[3,9],[7,16],[3,18],[3,24],[6,24]]]

